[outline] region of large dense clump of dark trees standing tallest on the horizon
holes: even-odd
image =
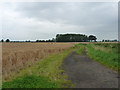
[[[56,42],[89,42],[96,41],[96,36],[83,34],[57,34]]]

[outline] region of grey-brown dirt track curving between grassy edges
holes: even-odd
[[[72,52],[62,67],[75,88],[118,88],[118,74],[91,60],[85,51]]]

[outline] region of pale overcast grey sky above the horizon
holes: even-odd
[[[51,39],[56,34],[118,39],[117,2],[4,2],[2,38]]]

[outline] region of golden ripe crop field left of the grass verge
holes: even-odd
[[[2,44],[2,75],[8,79],[13,72],[31,66],[35,61],[59,53],[75,43],[3,43]]]

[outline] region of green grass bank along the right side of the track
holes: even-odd
[[[106,46],[105,44],[100,44],[100,46],[101,47],[104,46],[106,48],[109,47],[109,46]],[[91,44],[87,46],[88,55],[92,59],[104,64],[107,67],[110,67],[111,69],[114,69],[114,70],[118,70],[118,68],[120,69],[118,65],[118,59],[119,59],[118,52],[116,52],[115,49],[112,49],[112,52],[107,52],[103,50],[96,50],[95,47],[96,47],[95,44],[94,45]],[[110,49],[110,48],[107,48],[107,49]]]

